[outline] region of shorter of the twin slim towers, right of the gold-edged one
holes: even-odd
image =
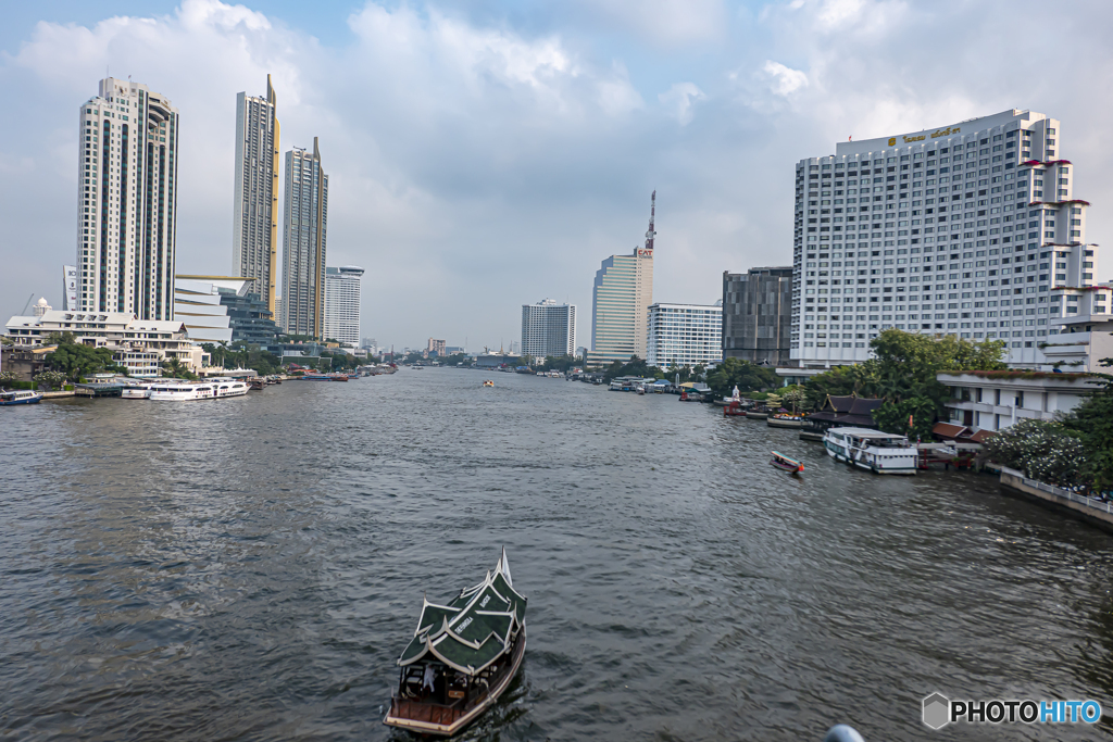
[[[328,236],[328,176],[321,149],[295,147],[286,152],[283,215],[283,329],[289,335],[321,337],[325,330],[325,255]]]

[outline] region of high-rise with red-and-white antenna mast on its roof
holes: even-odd
[[[646,357],[649,305],[653,303],[653,222],[657,191],[650,199],[646,247],[630,255],[612,255],[595,271],[591,303],[591,352],[587,365],[626,363]]]

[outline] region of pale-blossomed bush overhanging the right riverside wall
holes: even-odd
[[[1085,444],[1062,423],[1024,418],[983,444],[991,459],[1024,475],[1063,486],[1082,481]]]

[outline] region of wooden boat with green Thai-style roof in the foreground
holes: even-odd
[[[424,600],[398,657],[398,686],[383,723],[452,736],[490,709],[525,656],[526,598],[514,590],[503,550],[493,572],[444,605]]]

